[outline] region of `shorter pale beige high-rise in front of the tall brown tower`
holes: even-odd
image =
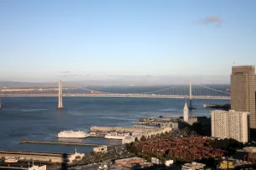
[[[249,140],[249,113],[234,110],[211,112],[212,137],[233,138],[241,143]]]

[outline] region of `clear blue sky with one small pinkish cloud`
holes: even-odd
[[[233,65],[256,65],[255,7],[253,0],[2,0],[0,81],[228,82]]]

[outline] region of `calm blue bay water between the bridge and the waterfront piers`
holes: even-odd
[[[63,130],[88,131],[90,126],[131,126],[140,117],[182,116],[184,99],[132,97],[64,97],[64,110],[56,110],[57,97],[3,97],[0,110],[0,149],[55,153],[90,153],[91,147],[19,144],[20,140],[57,141]],[[228,103],[224,100],[193,100],[197,110],[192,115],[210,116],[205,103]],[[69,140],[70,141],[70,140]],[[110,143],[103,138],[73,140],[75,143]]]

